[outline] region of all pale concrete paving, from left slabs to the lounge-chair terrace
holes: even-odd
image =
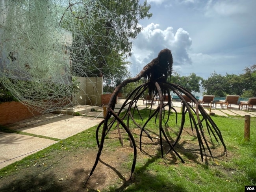
[[[116,112],[119,111],[123,102],[123,99],[119,99],[115,107]],[[142,100],[139,100],[137,105],[139,110],[145,109],[146,107],[145,104],[143,105]],[[156,103],[156,105],[152,106],[152,109],[156,109],[157,106],[158,105]],[[172,106],[178,113],[180,113],[180,102],[173,102]],[[147,107],[150,106],[147,105]],[[78,108],[85,110],[84,107],[81,106]],[[68,114],[43,114],[9,125],[8,127],[10,129],[49,137],[49,139],[0,132],[0,169],[58,142],[55,140],[68,138],[99,124],[103,120],[103,108],[97,107],[96,109],[97,111],[91,112],[88,112],[86,109],[87,113],[83,114],[83,116],[71,116]],[[127,107],[125,109],[127,109]],[[209,106],[205,106],[204,109],[207,113],[210,113]],[[81,114],[81,111],[78,111],[77,108],[74,108],[74,111]],[[212,108],[211,112],[220,116],[245,116],[246,114],[252,117],[256,116],[256,111],[241,111],[238,110],[238,107],[220,109],[220,107],[217,106],[217,109]],[[51,138],[55,138],[55,140],[52,140]]]

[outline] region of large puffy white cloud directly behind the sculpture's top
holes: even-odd
[[[159,24],[151,23],[138,35],[133,44],[132,57],[130,61],[132,74],[140,72],[143,66],[147,65],[158,53],[168,48],[172,51],[175,65],[190,65],[192,63],[188,50],[192,40],[189,33],[179,28],[174,33],[172,27],[165,30],[160,29]]]

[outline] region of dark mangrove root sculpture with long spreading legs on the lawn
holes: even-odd
[[[97,140],[97,144],[98,144],[98,153],[96,156],[95,164],[93,165],[93,168],[90,172],[88,179],[91,177],[91,175],[93,174],[93,171],[95,170],[95,168],[98,164],[98,161],[100,159],[100,155],[101,155],[101,152],[102,152],[102,149],[104,146],[105,137],[108,134],[109,130],[111,129],[111,127],[113,126],[115,121],[117,121],[118,130],[119,130],[119,124],[121,124],[121,126],[125,129],[126,133],[128,133],[131,146],[134,149],[134,159],[133,159],[133,163],[132,163],[131,177],[132,177],[132,173],[134,172],[134,169],[135,169],[137,149],[135,146],[134,137],[132,136],[132,133],[130,132],[130,129],[129,129],[129,119],[132,119],[132,121],[135,123],[135,125],[141,129],[140,142],[139,142],[140,150],[141,150],[141,138],[142,138],[143,131],[152,140],[150,135],[145,130],[145,126],[155,116],[155,118],[159,118],[159,134],[160,134],[160,147],[161,147],[162,157],[163,157],[163,142],[162,142],[162,140],[163,140],[162,135],[163,135],[163,137],[165,138],[165,140],[167,141],[167,143],[169,144],[169,147],[170,147],[169,150],[167,151],[167,153],[169,153],[170,151],[173,151],[180,158],[180,160],[182,162],[184,162],[182,157],[180,157],[180,155],[174,149],[174,146],[177,144],[177,142],[182,134],[182,130],[183,130],[184,123],[185,123],[185,114],[188,112],[189,118],[190,118],[190,123],[191,123],[191,128],[193,130],[193,125],[194,125],[194,128],[197,133],[197,139],[198,139],[198,144],[199,144],[199,148],[200,148],[200,156],[201,156],[202,161],[204,159],[203,153],[206,156],[206,151],[205,151],[206,148],[208,149],[211,157],[213,158],[210,147],[206,140],[206,137],[204,136],[202,121],[206,122],[206,127],[207,127],[207,131],[208,131],[209,135],[211,136],[211,134],[212,134],[218,143],[220,140],[224,146],[224,151],[226,152],[226,146],[224,144],[224,141],[223,141],[223,138],[221,135],[221,131],[219,130],[217,125],[213,122],[211,117],[206,113],[206,111],[204,111],[202,105],[200,105],[200,103],[197,101],[195,96],[193,96],[193,94],[191,94],[191,92],[189,92],[184,87],[181,87],[180,85],[177,85],[174,83],[167,82],[167,78],[171,77],[172,66],[173,66],[173,57],[172,57],[171,51],[169,49],[161,50],[161,52],[158,54],[158,57],[153,59],[150,63],[148,63],[143,68],[143,70],[141,70],[141,72],[139,74],[137,74],[137,76],[135,76],[134,78],[124,80],[120,85],[118,85],[116,87],[116,89],[114,90],[114,92],[109,100],[109,103],[107,106],[107,111],[106,111],[106,116],[96,129],[96,140]],[[141,78],[145,78],[147,80],[147,82],[140,85],[139,87],[137,87],[128,96],[128,98],[123,103],[119,112],[115,113],[114,112],[115,103],[116,103],[116,98],[117,98],[117,94],[119,93],[119,91],[122,89],[122,87],[126,86],[128,83],[139,81]],[[133,118],[133,113],[134,113],[135,109],[137,109],[137,111],[139,113],[139,110],[138,110],[136,104],[137,104],[137,101],[139,100],[139,98],[141,98],[141,96],[145,93],[145,90],[148,90],[151,98],[154,98],[155,96],[159,97],[159,105],[156,108],[156,110],[154,110],[154,112],[152,114],[151,114],[151,108],[150,108],[150,116],[149,116],[148,120],[145,122],[145,124],[143,126],[139,126]],[[162,119],[163,119],[163,115],[165,113],[164,107],[166,107],[166,106],[169,107],[168,117],[167,117],[167,121],[165,122],[165,124],[167,124],[167,122],[169,120],[170,110],[173,109],[176,113],[176,110],[171,106],[170,91],[173,91],[174,93],[176,93],[178,95],[178,97],[181,99],[181,101],[183,102],[180,131],[176,137],[176,140],[174,140],[173,143],[171,143],[169,141],[169,139],[163,129],[163,125],[162,125],[162,123],[163,123]],[[164,94],[168,95],[168,102],[165,104],[163,102]],[[193,109],[193,107],[191,107],[191,105],[186,102],[186,100],[183,98],[182,94],[185,94],[187,97],[189,97],[191,99],[191,101],[193,103],[195,103],[195,109]],[[126,106],[128,106],[128,109],[127,109],[126,113],[124,114],[124,116],[122,116],[122,118],[121,118],[119,116],[119,114],[121,113],[122,109],[124,109],[124,107],[126,107]],[[132,106],[134,106],[133,112],[131,112]],[[152,106],[152,104],[151,104],[151,106]],[[202,119],[200,119],[199,112],[202,115]],[[193,113],[196,114],[196,117],[193,116]],[[111,122],[109,122],[109,119],[111,118],[111,116],[113,116],[114,118],[113,118],[113,120],[111,120]],[[127,116],[127,123],[124,122],[124,118],[126,116]],[[176,113],[176,123],[177,123],[177,113]],[[101,140],[99,142],[98,131],[99,131],[100,127],[102,126],[102,124],[103,124],[102,135],[101,135]],[[119,132],[119,135],[120,135],[120,132]],[[219,140],[218,140],[218,138],[219,138]],[[206,147],[205,147],[205,145],[206,145]],[[88,181],[88,179],[87,179],[87,181]],[[87,183],[87,181],[86,181],[86,183]]]

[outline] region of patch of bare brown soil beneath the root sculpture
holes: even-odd
[[[123,130],[122,130],[123,131]],[[140,130],[134,129],[133,135],[139,135]],[[124,133],[124,131],[123,131]],[[182,133],[193,136],[191,129],[186,129]],[[144,134],[145,135],[145,134]],[[135,137],[137,144],[137,162],[143,158],[161,158],[160,140],[158,133],[150,133],[153,142],[143,136],[142,149],[139,151],[139,137]],[[123,135],[123,138],[127,135]],[[116,185],[120,190],[130,185],[133,181],[130,179],[131,171],[124,165],[124,162],[132,161],[131,156],[134,149],[130,147],[128,140],[124,139],[124,146],[113,147],[111,142],[118,140],[117,130],[109,134],[106,139],[100,161],[96,169],[89,178],[87,184],[85,181],[89,177],[91,168],[95,163],[95,149],[78,148],[61,153],[52,152],[48,157],[41,159],[34,166],[23,168],[17,174],[0,179],[1,192],[27,191],[27,192],[81,192],[81,191],[97,191],[107,188],[109,185]],[[109,146],[108,146],[109,145]],[[164,151],[169,150],[166,142],[163,143]],[[189,163],[204,164],[201,161],[197,139],[184,140],[180,139],[175,146],[176,151],[183,157],[186,156]],[[213,155],[217,159],[225,159],[223,147],[218,146],[212,150]],[[131,155],[132,154],[132,155]],[[166,166],[168,164],[180,164],[181,161],[173,153],[164,156]]]

